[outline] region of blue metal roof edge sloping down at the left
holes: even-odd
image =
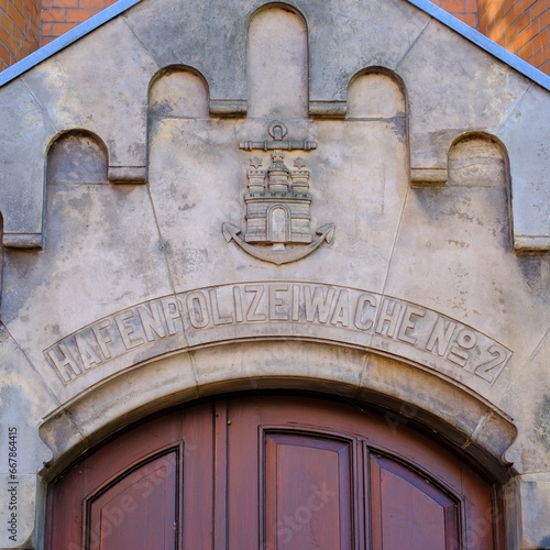
[[[2,70],[0,73],[0,87],[18,78],[22,74],[38,65],[38,63],[42,63],[57,52],[61,52],[64,47],[69,46],[77,40],[95,31],[98,26],[101,26],[103,23],[114,19],[117,15],[120,15],[122,12],[140,2],[141,0],[119,0],[109,8],[96,13],[96,15],[92,15],[84,23],[80,23],[70,31],[67,31],[65,34],[62,34],[50,44],[36,50],[36,52],[33,52],[31,55],[28,55],[20,62],[13,64],[11,67]]]

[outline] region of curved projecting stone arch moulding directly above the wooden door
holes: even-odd
[[[53,453],[47,482],[82,452],[153,413],[202,397],[299,389],[383,407],[399,424],[436,430],[503,482],[512,420],[446,376],[376,353],[305,341],[234,342],[176,352],[133,365],[82,391],[52,413],[40,433]]]

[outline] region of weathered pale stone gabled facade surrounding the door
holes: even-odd
[[[0,548],[116,431],[260,388],[414,417],[550,548],[550,79],[458,31],[143,0],[4,82]]]

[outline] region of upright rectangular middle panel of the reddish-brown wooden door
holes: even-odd
[[[266,548],[351,550],[352,442],[264,435]]]

